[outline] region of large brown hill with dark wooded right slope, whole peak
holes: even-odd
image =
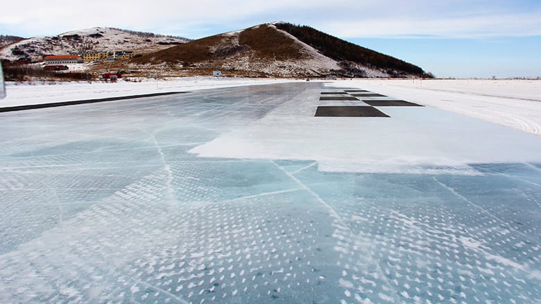
[[[162,75],[250,77],[412,77],[413,64],[307,26],[283,22],[223,33],[134,58],[126,69]]]

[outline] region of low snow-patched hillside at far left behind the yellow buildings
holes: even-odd
[[[116,28],[87,28],[53,37],[33,37],[10,44],[0,50],[0,57],[17,60],[31,57],[42,60],[43,55],[62,55],[82,51],[134,51],[148,53],[189,41],[180,37],[165,37]],[[161,43],[161,44],[159,44]]]

